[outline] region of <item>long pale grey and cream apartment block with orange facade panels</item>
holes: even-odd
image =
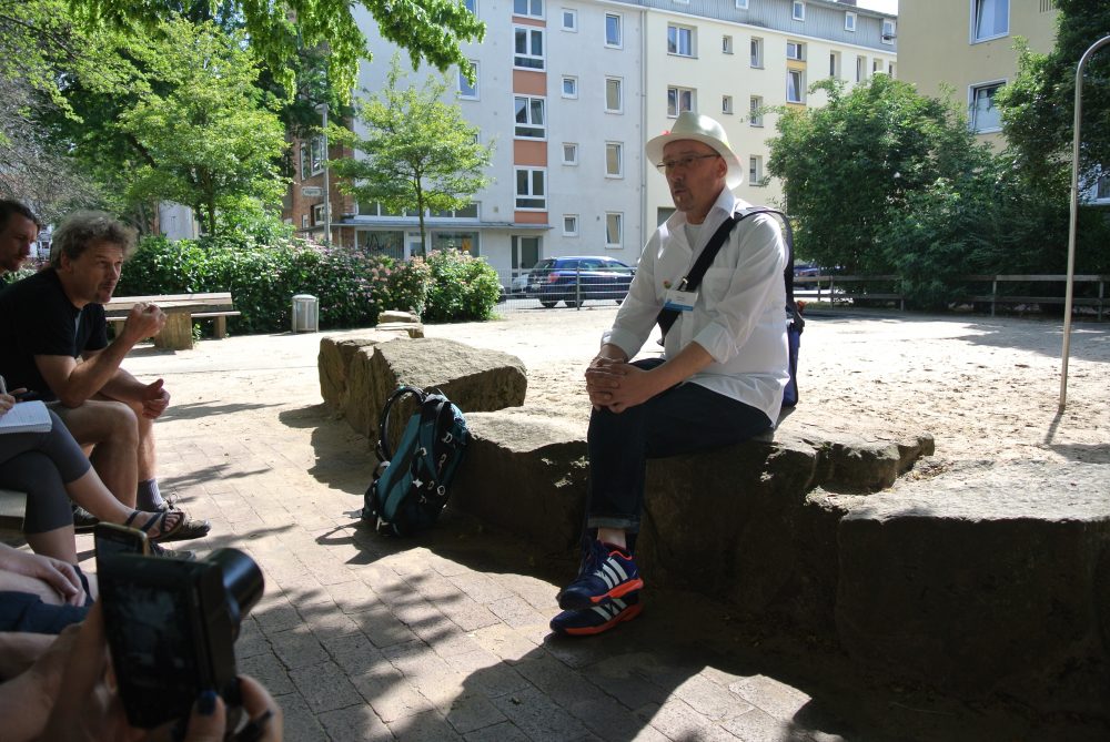
[[[467,7],[486,23],[485,40],[463,48],[477,79],[471,84],[457,70],[451,74],[464,116],[494,144],[492,183],[467,209],[426,216],[428,247],[485,256],[506,284],[553,255],[605,254],[635,264],[673,206],[644,143],[680,111],[723,122],[749,163],[750,182],[738,193],[769,204],[780,193],[764,172],[775,133],[769,109],[821,104],[823,95],[807,89],[823,78],[854,84],[896,73],[896,19],[847,2],[467,0]],[[395,48],[365,10],[356,13],[374,51],[359,85],[379,90]],[[437,73],[422,69],[408,80],[420,84],[427,74]],[[311,143],[301,146],[286,217],[322,235],[322,196],[300,195],[304,185],[317,193],[313,151]],[[343,202],[334,185],[332,200],[333,241],[395,257],[418,250],[415,214]]]

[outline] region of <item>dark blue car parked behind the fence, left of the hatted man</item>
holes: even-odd
[[[527,295],[548,309],[565,303],[578,306],[586,299],[615,299],[628,295],[636,268],[601,255],[547,257],[528,273]]]

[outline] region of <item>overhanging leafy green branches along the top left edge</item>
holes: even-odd
[[[13,0],[0,0],[12,2]],[[355,20],[354,0],[69,0],[88,27],[107,26],[129,33],[153,32],[163,19],[191,10],[209,16],[219,8],[235,13],[251,47],[290,94],[295,90],[299,50],[325,47],[327,78],[346,100],[354,89],[359,61],[370,59],[366,39]],[[463,41],[481,41],[485,24],[458,0],[357,0],[374,17],[382,37],[408,50],[415,69],[427,61],[440,70],[453,64],[472,73],[460,49]],[[186,16],[189,13],[185,13]]]

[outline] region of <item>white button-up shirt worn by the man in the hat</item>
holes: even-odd
[[[750,207],[724,189],[706,215],[696,244],[686,240],[686,215],[675,212],[652,235],[640,255],[628,297],[613,327],[602,336],[629,358],[653,335],[667,289],[677,287],[717,227],[735,211]],[[667,332],[664,355],[675,357],[690,343],[713,363],[687,379],[763,410],[774,423],[789,380],[786,346],[787,251],[774,216],[739,222],[698,286],[690,312],[680,312]]]

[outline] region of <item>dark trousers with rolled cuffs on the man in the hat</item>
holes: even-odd
[[[635,362],[649,369],[662,358]],[[697,384],[682,384],[623,413],[595,409],[586,436],[586,528],[639,531],[647,459],[738,444],[771,427],[760,410]]]

